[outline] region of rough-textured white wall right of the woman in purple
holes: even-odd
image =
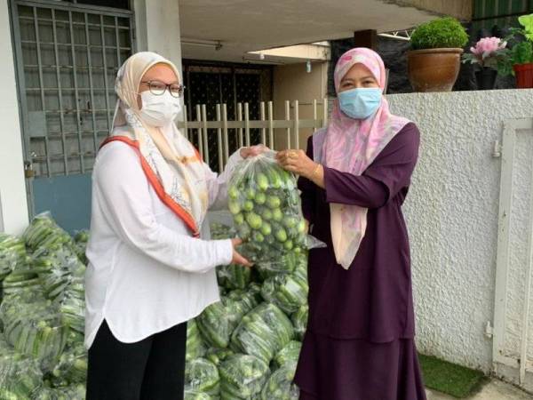
[[[508,118],[533,116],[533,91],[390,95],[394,114],[422,134],[405,205],[413,260],[418,348],[489,372],[500,158]],[[530,157],[530,155],[529,155]]]

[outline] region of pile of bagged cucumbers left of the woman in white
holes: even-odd
[[[84,398],[86,241],[48,213],[0,234],[0,400]]]

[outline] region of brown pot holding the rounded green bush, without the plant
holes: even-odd
[[[451,92],[461,68],[463,49],[413,50],[407,53],[415,92]]]

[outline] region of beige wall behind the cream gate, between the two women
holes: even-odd
[[[290,100],[290,117],[294,108],[292,102],[298,100],[299,119],[313,118],[313,100],[319,102],[317,114],[322,118],[322,100],[327,95],[328,63],[315,62],[310,73],[306,72],[306,64],[290,64],[274,68],[274,119],[285,119],[285,101]],[[306,147],[306,140],[313,132],[312,129],[302,129],[299,132],[300,148]],[[293,135],[294,132],[291,132]],[[274,131],[275,148],[287,147],[286,130]],[[294,143],[292,143],[294,147]]]

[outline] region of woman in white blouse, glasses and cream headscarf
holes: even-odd
[[[113,131],[92,174],[86,272],[88,400],[183,398],[187,320],[219,301],[215,267],[250,267],[238,239],[200,238],[227,204],[242,148],[217,176],[173,124],[183,86],[171,61],[139,52],[118,71]]]

